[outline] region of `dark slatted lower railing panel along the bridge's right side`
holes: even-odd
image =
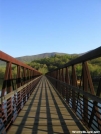
[[[101,98],[47,75],[52,86],[90,130],[101,131]],[[74,94],[75,93],[75,94]],[[75,96],[75,97],[74,97]],[[95,118],[96,117],[96,118]]]

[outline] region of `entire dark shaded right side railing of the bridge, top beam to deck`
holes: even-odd
[[[101,47],[48,72],[47,78],[89,130],[101,131],[101,77],[94,87],[87,61],[101,56]],[[78,81],[76,66],[81,65]]]

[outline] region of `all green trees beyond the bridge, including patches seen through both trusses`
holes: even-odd
[[[39,60],[33,60],[29,63],[27,63],[28,65],[30,65],[31,67],[35,68],[36,70],[40,71],[41,73],[45,74],[49,71],[52,71],[58,67],[61,67],[62,65],[68,63],[69,61],[77,58],[79,55],[77,54],[72,54],[72,55],[58,55],[55,54],[51,57],[47,57],[47,58],[42,58]],[[93,60],[88,61],[88,67],[90,69],[90,73],[91,76],[101,76],[101,57],[100,58],[96,58]],[[5,65],[0,65],[0,89],[2,88],[2,82],[3,82],[3,78],[4,78],[4,72],[5,72]],[[71,68],[69,68],[69,70],[71,71]],[[81,72],[82,72],[82,65],[81,64],[77,64],[76,65],[76,73],[78,76],[81,76]],[[13,78],[16,77],[16,73],[17,73],[17,68],[16,66],[12,66],[12,76]]]

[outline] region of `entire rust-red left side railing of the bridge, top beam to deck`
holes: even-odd
[[[6,63],[0,97],[0,134],[5,134],[32,94],[42,74],[2,51],[0,60]],[[15,78],[12,65],[16,66]]]

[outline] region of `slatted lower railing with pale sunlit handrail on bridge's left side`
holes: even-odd
[[[39,82],[41,76],[19,87],[16,91],[12,91],[0,99],[0,112],[2,128],[0,133],[9,129],[18,113],[22,110],[24,104],[28,101],[28,98],[34,91],[35,86]],[[5,132],[4,131],[4,132]]]

